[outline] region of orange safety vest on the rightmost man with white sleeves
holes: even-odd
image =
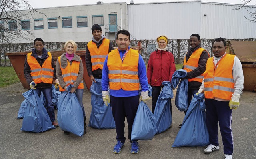
[[[214,97],[230,100],[234,93],[234,80],[232,69],[234,65],[235,55],[226,54],[214,70],[213,60],[209,58],[206,63],[204,72],[204,94],[205,98],[212,99]]]

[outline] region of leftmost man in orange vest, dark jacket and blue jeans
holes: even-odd
[[[44,41],[41,38],[34,40],[32,52],[25,57],[24,76],[30,88],[35,89],[39,97],[43,92],[46,99],[46,111],[52,125],[58,127],[52,103],[52,80],[56,77],[55,63],[52,54],[44,48]],[[55,80],[55,83],[59,83],[58,79]]]

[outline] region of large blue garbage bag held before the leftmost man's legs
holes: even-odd
[[[30,89],[22,95],[27,99],[28,105],[24,113],[21,130],[40,133],[55,129],[36,91]]]

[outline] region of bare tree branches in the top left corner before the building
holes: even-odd
[[[0,0],[0,44],[14,42],[24,38],[29,39],[30,30],[26,30],[28,23],[24,19],[32,17],[36,11],[26,0]]]

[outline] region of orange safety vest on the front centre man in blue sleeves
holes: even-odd
[[[109,88],[112,90],[136,91],[140,83],[138,77],[139,53],[138,50],[129,49],[123,62],[118,49],[108,54]]]

